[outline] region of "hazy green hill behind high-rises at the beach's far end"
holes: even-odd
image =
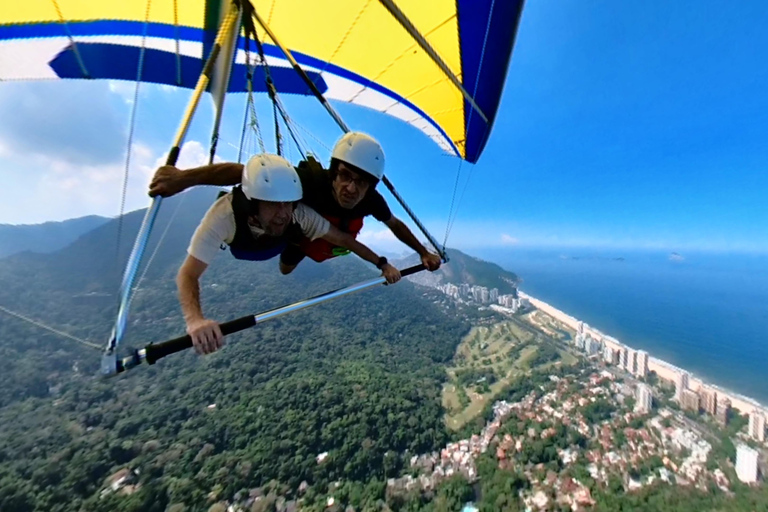
[[[403,267],[415,265],[418,263],[418,258],[415,255],[409,256],[399,263]],[[458,249],[448,249],[448,263],[437,272],[422,272],[409,279],[416,284],[430,287],[444,283],[455,285],[467,283],[489,289],[498,288],[501,294],[512,293],[519,282],[514,272],[504,270],[495,263],[465,254]]]

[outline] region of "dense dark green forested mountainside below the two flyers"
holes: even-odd
[[[215,192],[184,196],[137,291],[126,346],[183,333],[173,279]],[[164,204],[148,256],[179,201]],[[119,256],[110,221],[53,254],[0,261],[0,306],[102,344],[142,215],[124,217]],[[377,273],[348,256],[281,276],[276,260],[222,251],[203,278],[203,307],[224,321]],[[305,506],[324,508],[336,481],[350,503],[373,506],[406,450],[448,440],[444,364],[468,326],[424,293],[382,286],[232,336],[217,354],[178,354],[110,380],[95,377],[99,351],[0,313],[0,510],[207,510],[255,488],[295,499],[302,482]],[[120,470],[132,485],[100,498]]]

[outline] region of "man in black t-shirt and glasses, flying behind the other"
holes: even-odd
[[[195,185],[236,185],[240,183],[242,169],[242,165],[236,163],[186,171],[163,166],[155,172],[149,194],[168,197]],[[363,219],[372,215],[416,251],[427,269],[440,268],[440,257],[427,251],[408,226],[392,215],[387,202],[376,191],[376,185],[384,176],[384,151],[375,139],[360,132],[347,133],[333,148],[329,170],[323,169],[312,157],[301,162],[296,170],[304,190],[302,202],[331,224],[356,237],[363,227]],[[280,271],[292,272],[306,256],[324,261],[346,253],[324,240],[303,239],[280,255]],[[386,258],[382,260],[381,264],[386,263]]]

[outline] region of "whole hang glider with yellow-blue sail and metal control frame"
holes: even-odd
[[[217,110],[213,156],[227,93],[267,93],[277,108],[276,91],[317,97],[343,131],[348,127],[328,100],[379,111],[475,163],[496,117],[522,9],[522,0],[12,2],[0,10],[0,82],[116,79],[193,89],[168,165],[176,163],[205,92]],[[261,65],[250,60],[256,47]],[[445,259],[444,247],[392,183],[386,177],[383,182]],[[155,198],[147,210],[124,273],[102,363],[106,375],[156,359],[142,349],[119,360],[117,347],[160,204]],[[260,316],[238,326],[253,325]]]

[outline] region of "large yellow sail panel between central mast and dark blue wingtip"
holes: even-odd
[[[398,6],[452,72],[461,77],[455,2],[401,0]],[[439,125],[454,145],[464,139],[461,94],[378,1],[264,0],[254,2],[254,7],[269,20],[281,43],[321,61],[318,71],[335,73],[336,68],[342,68],[358,82],[370,81],[393,93],[382,96],[364,85],[347,85],[329,91],[330,97],[389,114],[397,111],[393,108],[399,100],[407,100],[421,112],[411,109],[396,117],[407,122],[423,116],[440,117]]]

